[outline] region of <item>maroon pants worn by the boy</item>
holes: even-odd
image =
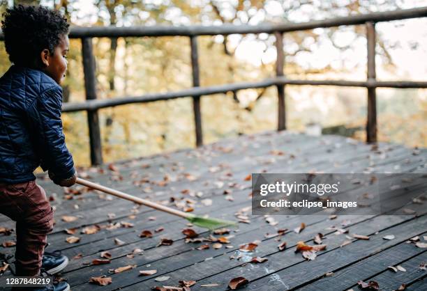
[[[0,183],[0,213],[16,221],[16,276],[38,275],[46,236],[53,228],[53,210],[45,190],[36,181]]]

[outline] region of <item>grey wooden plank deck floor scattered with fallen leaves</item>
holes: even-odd
[[[213,235],[228,237],[227,244],[186,242],[181,230],[189,226],[183,219],[82,187],[73,187],[75,191],[64,195],[61,187],[39,179],[56,207],[56,225],[48,237],[47,251],[59,249],[70,258],[61,278],[70,283],[73,291],[151,290],[153,286],[179,286],[179,281],[196,281],[191,290],[228,290],[230,280],[239,276],[249,281],[243,290],[359,290],[357,281],[376,281],[380,290],[397,290],[403,283],[406,290],[427,290],[427,271],[420,267],[421,262],[427,262],[427,249],[407,242],[416,236],[426,242],[427,201],[414,204],[417,215],[343,215],[336,219],[320,215],[274,216],[278,223],[271,226],[266,217],[250,215],[251,182],[246,178],[262,171],[427,173],[427,150],[389,144],[373,149],[340,136],[271,132],[80,171],[83,178],[89,176],[89,180],[142,198],[181,209],[193,208],[195,214],[241,221],[238,230]],[[67,218],[63,216],[75,221],[64,221]],[[306,228],[295,233],[293,229],[301,223]],[[336,235],[331,226],[350,231]],[[0,217],[0,227],[14,225]],[[266,236],[277,233],[279,228],[288,230],[279,237]],[[75,233],[67,234],[64,229]],[[193,229],[199,237],[211,234]],[[142,230],[150,230],[153,237],[140,237]],[[94,233],[82,233],[91,231]],[[317,233],[324,235],[327,249],[318,252],[315,260],[308,261],[294,252],[299,241],[313,244]],[[352,234],[368,235],[370,239],[354,239]],[[386,240],[384,235],[395,238]],[[80,237],[80,241],[66,242],[72,236]],[[173,244],[158,246],[162,238],[172,239]],[[0,243],[14,240],[14,233],[1,235],[0,239]],[[241,244],[256,240],[259,242],[253,252],[239,251]],[[351,243],[342,246],[345,241]],[[279,251],[278,244],[282,242],[287,246]],[[197,249],[204,244],[209,249]],[[14,251],[13,247],[0,248],[8,262],[13,262],[8,255]],[[93,265],[102,251],[111,255],[110,263]],[[255,256],[268,261],[249,262]],[[387,269],[396,265],[406,272]],[[125,266],[132,267],[114,274],[114,269]],[[140,271],[151,269],[157,273],[139,276]],[[89,283],[91,277],[99,276],[112,278],[112,283]]]

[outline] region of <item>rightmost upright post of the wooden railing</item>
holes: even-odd
[[[375,24],[366,22],[368,43],[368,81],[375,81]],[[368,88],[368,117],[366,120],[366,142],[377,142],[377,97],[374,88]]]

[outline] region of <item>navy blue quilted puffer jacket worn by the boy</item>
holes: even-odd
[[[13,65],[0,78],[0,182],[35,180],[38,166],[58,179],[73,176],[61,104],[61,87],[40,70]]]

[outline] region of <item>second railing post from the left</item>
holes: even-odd
[[[191,68],[193,70],[193,86],[200,86],[199,54],[197,52],[197,36],[190,36]],[[203,145],[202,114],[200,112],[200,96],[193,97],[196,146]]]

